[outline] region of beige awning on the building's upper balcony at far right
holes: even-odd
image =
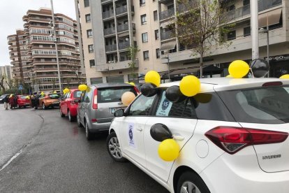
[[[267,27],[272,24],[279,24],[280,17],[282,13],[282,8],[277,8],[275,10],[262,13],[258,16],[259,28]]]

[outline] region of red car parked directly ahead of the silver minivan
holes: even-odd
[[[65,117],[68,115],[68,120],[73,122],[77,117],[77,106],[81,96],[81,91],[77,89],[71,89],[68,93],[61,97],[60,101],[60,116]]]

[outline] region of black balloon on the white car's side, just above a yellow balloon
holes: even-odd
[[[172,132],[165,124],[156,123],[151,126],[151,137],[156,141],[164,141],[165,139],[172,138]]]

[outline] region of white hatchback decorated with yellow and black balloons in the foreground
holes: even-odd
[[[201,93],[172,103],[165,83],[118,110],[107,139],[112,159],[126,159],[170,192],[288,193],[289,80],[200,79]],[[158,156],[154,124],[180,147],[174,162]]]

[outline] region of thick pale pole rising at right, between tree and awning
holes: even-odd
[[[259,58],[258,1],[250,1],[252,60]]]

